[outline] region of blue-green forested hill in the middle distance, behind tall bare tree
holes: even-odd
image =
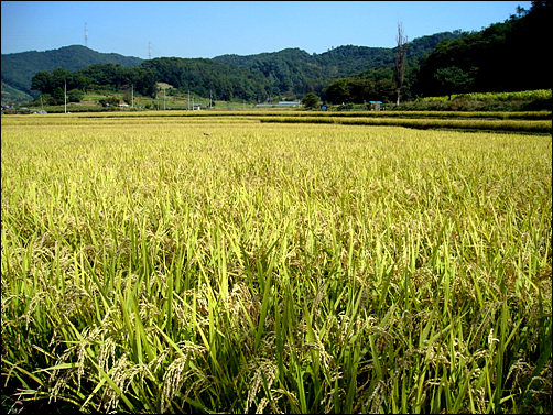
[[[410,43],[408,59],[419,62],[443,40],[456,40],[460,32],[444,32],[415,39]],[[339,46],[322,54],[308,54],[301,48],[239,56],[207,58],[159,57],[144,61],[141,67],[158,81],[181,91],[189,89],[203,97],[263,101],[267,98],[299,99],[310,91],[323,95],[336,79],[368,70],[386,70],[392,76],[395,50],[367,46]]]

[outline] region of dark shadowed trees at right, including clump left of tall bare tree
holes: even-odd
[[[516,14],[503,23],[444,39],[423,56],[410,56],[409,44],[404,74],[398,74],[392,64],[366,70],[333,81],[324,98],[333,103],[359,103],[375,97],[392,102],[390,81],[393,79],[398,86],[401,75],[404,83],[400,94],[408,100],[464,92],[551,89],[545,51],[551,50],[552,9],[551,1],[533,1],[530,10],[518,7]]]

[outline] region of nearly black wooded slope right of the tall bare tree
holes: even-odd
[[[441,43],[421,66],[413,92],[551,89],[553,2],[532,1],[530,10],[517,13],[503,23]]]

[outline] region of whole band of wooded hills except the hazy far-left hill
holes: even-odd
[[[394,102],[398,97],[551,88],[545,51],[551,47],[552,3],[517,8],[503,23],[479,32],[445,32],[398,47],[340,46],[310,55],[299,48],[213,59],[159,57],[139,66],[95,64],[69,73],[40,72],[32,88],[59,101],[66,86],[71,100],[90,90],[128,90],[154,97],[156,83],[218,100],[299,99],[308,92],[330,103]],[[401,61],[401,65],[399,62]]]

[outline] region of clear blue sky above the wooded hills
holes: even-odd
[[[149,57],[252,55],[300,47],[394,47],[409,40],[479,31],[530,1],[2,1],[2,54],[74,44]]]

